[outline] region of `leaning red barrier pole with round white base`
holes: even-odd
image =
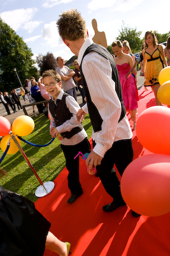
[[[15,136],[12,134],[11,132],[11,138],[13,139],[13,141],[15,142],[15,144],[17,145],[18,149],[20,150],[22,156],[24,156],[24,159],[27,161],[27,163],[29,164],[32,172],[34,172],[34,175],[36,175],[36,178],[38,179],[39,183],[41,184],[41,186],[39,186],[37,189],[36,189],[36,192],[35,192],[35,195],[37,197],[43,197],[45,195],[48,195],[48,193],[50,193],[53,188],[55,187],[55,184],[54,182],[52,181],[48,181],[48,182],[45,182],[43,184],[43,182],[41,181],[41,179],[39,178],[38,174],[36,173],[36,171],[34,170],[34,167],[32,166],[32,164],[30,163],[28,157],[25,155],[25,152],[24,150],[22,149],[22,147],[20,147],[18,141],[16,140]]]

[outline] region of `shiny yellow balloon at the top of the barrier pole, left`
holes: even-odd
[[[18,136],[26,136],[34,130],[34,120],[30,116],[18,116],[12,124],[12,132]]]

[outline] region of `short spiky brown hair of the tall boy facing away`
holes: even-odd
[[[87,26],[81,13],[76,9],[70,9],[59,15],[57,27],[59,35],[69,41],[87,38]]]

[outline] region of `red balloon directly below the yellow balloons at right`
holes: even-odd
[[[136,122],[136,136],[143,147],[157,154],[170,155],[170,109],[153,106],[145,109]]]

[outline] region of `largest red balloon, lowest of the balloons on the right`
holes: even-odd
[[[170,211],[170,156],[150,154],[139,157],[125,169],[120,189],[129,207],[145,216]]]

